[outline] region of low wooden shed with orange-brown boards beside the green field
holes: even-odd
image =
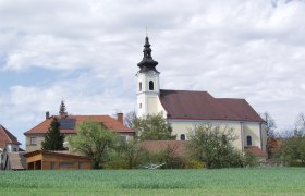
[[[69,151],[35,150],[24,156],[28,170],[88,170],[91,168],[90,158]]]

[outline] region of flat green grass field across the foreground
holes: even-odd
[[[305,195],[305,169],[10,171],[0,195]]]

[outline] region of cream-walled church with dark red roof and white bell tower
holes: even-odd
[[[158,62],[146,36],[143,60],[137,64],[137,117],[162,113],[178,140],[187,140],[196,125],[231,127],[239,137],[233,145],[266,154],[266,124],[245,99],[215,98],[207,91],[160,89]]]

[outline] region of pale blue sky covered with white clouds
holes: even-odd
[[[278,130],[305,112],[304,0],[0,0],[0,124],[126,113],[148,27],[162,89],[245,98]]]

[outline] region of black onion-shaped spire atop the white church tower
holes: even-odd
[[[141,69],[139,72],[148,72],[150,70],[158,72],[156,70],[158,62],[155,61],[151,57],[151,49],[150,49],[148,36],[146,36],[146,38],[145,38],[143,53],[144,53],[143,60],[137,64],[137,66],[139,66],[139,69]]]

